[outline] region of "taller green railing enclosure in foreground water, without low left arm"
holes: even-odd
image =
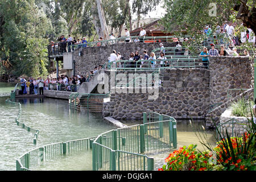
[[[147,154],[177,147],[174,118],[153,112],[143,113],[143,122],[146,123],[99,135],[93,142],[93,170],[150,171],[154,169],[154,158]]]

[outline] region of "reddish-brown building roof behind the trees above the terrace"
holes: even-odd
[[[160,19],[155,20],[154,22],[146,24],[144,27],[144,30],[146,32],[164,32],[164,26],[159,23]],[[141,31],[141,27],[134,29],[133,31],[130,31],[130,34],[139,34]]]

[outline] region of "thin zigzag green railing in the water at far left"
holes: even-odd
[[[11,96],[11,97],[12,97],[12,96]],[[30,127],[30,126],[27,126],[25,123],[22,123],[22,122],[19,121],[19,120],[20,120],[20,117],[21,117],[21,113],[22,113],[21,104],[20,104],[19,102],[11,101],[11,99],[7,99],[5,102],[6,102],[6,104],[18,105],[19,111],[18,111],[17,117],[15,118],[15,122],[16,122],[16,124],[17,124],[18,126],[21,126],[24,130],[27,130],[28,132],[34,133],[33,143],[36,145],[36,141],[37,141],[38,135],[39,135],[39,130],[33,129],[33,128]]]

